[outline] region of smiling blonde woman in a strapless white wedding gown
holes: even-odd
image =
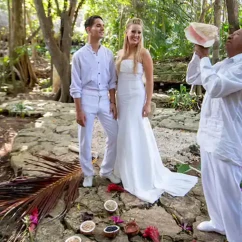
[[[128,21],[123,49],[118,52],[118,143],[115,174],[124,189],[154,203],[163,192],[184,196],[197,177],[164,167],[148,119],[153,93],[153,63],[143,48],[141,19]],[[146,87],[142,81],[145,74]]]

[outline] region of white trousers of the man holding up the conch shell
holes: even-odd
[[[242,241],[242,168],[201,149],[202,184],[208,213],[229,242]]]

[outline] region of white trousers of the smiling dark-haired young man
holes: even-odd
[[[113,119],[113,114],[110,112],[108,92],[85,92],[85,90],[83,90],[81,100],[82,109],[86,115],[86,125],[85,127],[78,125],[78,139],[80,147],[79,158],[84,176],[93,176],[94,174],[91,147],[93,125],[96,117],[101,122],[107,135],[106,150],[100,174],[109,175],[114,169],[116,160],[118,124],[117,121]]]

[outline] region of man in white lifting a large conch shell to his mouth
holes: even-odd
[[[226,42],[228,58],[212,65],[209,48],[195,45],[186,80],[206,90],[197,135],[210,221],[200,231],[242,241],[242,29]]]

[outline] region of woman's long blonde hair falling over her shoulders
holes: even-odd
[[[133,24],[137,24],[140,25],[142,27],[142,34],[141,34],[141,38],[140,38],[140,42],[138,43],[138,45],[135,48],[135,53],[134,53],[134,68],[133,68],[133,72],[136,74],[137,73],[137,68],[138,68],[138,61],[140,59],[140,55],[141,55],[141,51],[144,48],[143,45],[143,21],[139,18],[132,18],[129,19],[126,23],[126,29],[125,29],[125,37],[124,37],[124,44],[123,44],[123,52],[121,56],[118,56],[117,58],[117,62],[116,62],[116,66],[117,66],[117,70],[118,72],[120,71],[120,65],[122,60],[127,59],[130,55],[130,48],[129,48],[129,40],[128,40],[128,36],[127,36],[127,31],[130,28],[131,25]]]

